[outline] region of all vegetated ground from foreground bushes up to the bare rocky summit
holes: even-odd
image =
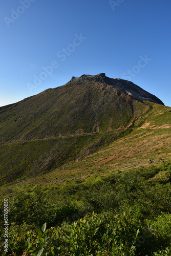
[[[171,255],[170,108],[82,79],[0,108],[1,255]]]

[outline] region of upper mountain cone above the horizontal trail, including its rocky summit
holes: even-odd
[[[163,104],[132,82],[103,73],[72,78],[64,86],[0,108],[0,142],[126,127],[149,109],[143,100]]]

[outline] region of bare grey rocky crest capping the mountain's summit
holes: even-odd
[[[151,101],[154,103],[158,103],[161,105],[164,105],[164,103],[157,98],[155,95],[146,92],[139,86],[136,86],[131,81],[123,80],[123,79],[118,79],[118,78],[110,78],[105,76],[105,73],[100,73],[98,75],[82,75],[80,77],[72,77],[72,79],[67,83],[103,83],[104,85],[108,84],[112,87],[117,88],[118,90],[124,92],[127,95],[130,95],[131,97],[138,99],[138,100],[147,100]]]

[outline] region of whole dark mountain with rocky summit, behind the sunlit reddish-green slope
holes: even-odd
[[[167,110],[136,84],[104,73],[72,77],[61,87],[3,106],[1,184],[46,175],[115,141],[124,148],[124,136],[146,127],[169,129]]]

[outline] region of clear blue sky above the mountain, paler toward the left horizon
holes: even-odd
[[[170,11],[170,0],[1,1],[0,106],[102,72],[171,106]]]

